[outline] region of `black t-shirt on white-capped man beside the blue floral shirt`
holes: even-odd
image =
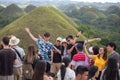
[[[61,46],[56,46],[56,45],[54,46],[61,51],[61,48],[62,48]],[[61,54],[53,51],[53,62],[60,63],[61,60],[62,60]]]

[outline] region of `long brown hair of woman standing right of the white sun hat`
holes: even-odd
[[[27,52],[27,63],[33,63],[35,59],[35,46],[34,45],[30,45],[28,47],[28,52]]]

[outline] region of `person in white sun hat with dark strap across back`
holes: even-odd
[[[23,65],[22,60],[23,60],[23,57],[25,56],[25,52],[23,48],[18,46],[19,42],[20,42],[19,38],[15,36],[11,36],[9,45],[11,49],[16,53],[16,56],[18,59],[18,63],[15,64],[13,68],[14,80],[22,80],[22,65]]]

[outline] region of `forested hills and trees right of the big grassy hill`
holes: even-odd
[[[106,10],[100,10],[91,6],[78,8],[77,5],[69,5],[64,13],[76,21],[79,25],[78,30],[81,30],[86,37],[101,37],[103,45],[115,42],[120,53],[119,6],[111,5]]]

